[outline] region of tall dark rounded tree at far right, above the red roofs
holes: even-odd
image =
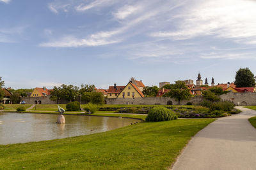
[[[236,81],[234,82],[236,87],[254,87],[255,79],[254,74],[248,67],[240,68],[236,72]]]

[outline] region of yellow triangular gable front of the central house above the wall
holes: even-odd
[[[140,89],[131,81],[125,86],[125,88],[118,94],[117,98],[137,98],[144,97]]]

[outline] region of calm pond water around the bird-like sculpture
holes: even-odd
[[[0,113],[0,145],[81,136],[141,122],[131,118],[65,115],[66,124],[56,124],[57,118],[58,115]]]

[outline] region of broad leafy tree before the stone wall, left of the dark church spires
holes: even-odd
[[[189,99],[191,97],[190,89],[186,86],[184,81],[175,81],[175,84],[171,85],[170,92],[164,94],[165,97],[172,97],[179,102]]]

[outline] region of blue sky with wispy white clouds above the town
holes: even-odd
[[[256,74],[255,0],[0,0],[0,76],[13,89]],[[211,83],[211,82],[209,82]]]

